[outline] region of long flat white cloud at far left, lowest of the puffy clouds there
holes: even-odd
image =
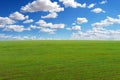
[[[26,30],[22,25],[6,25],[3,31],[22,32]]]

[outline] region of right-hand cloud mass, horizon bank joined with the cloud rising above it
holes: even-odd
[[[113,24],[120,24],[120,18],[107,17],[100,22],[93,23],[93,28],[86,32],[76,32],[71,35],[71,39],[78,40],[120,40],[120,29],[110,30],[106,29],[106,26]]]

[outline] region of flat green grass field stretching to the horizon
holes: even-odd
[[[120,80],[120,41],[1,41],[0,80]]]

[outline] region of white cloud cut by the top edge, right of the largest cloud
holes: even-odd
[[[72,8],[81,7],[81,8],[86,8],[86,3],[80,4],[80,3],[76,2],[75,0],[59,0],[59,1],[63,2],[63,4],[65,5],[65,7],[72,7]]]

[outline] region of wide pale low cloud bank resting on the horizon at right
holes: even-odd
[[[93,28],[86,32],[73,33],[71,39],[77,40],[120,40],[120,30]]]

